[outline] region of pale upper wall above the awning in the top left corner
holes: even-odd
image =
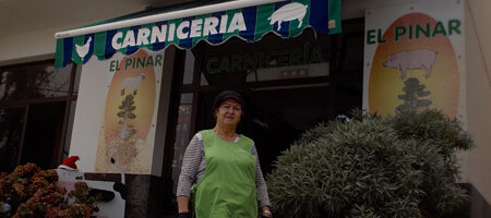
[[[0,65],[55,58],[55,33],[142,11],[149,0],[1,0]]]

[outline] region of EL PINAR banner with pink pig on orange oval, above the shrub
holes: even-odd
[[[465,1],[386,3],[392,5],[366,11],[363,109],[393,114],[438,108],[462,118]]]

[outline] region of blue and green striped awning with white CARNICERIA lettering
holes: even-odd
[[[283,38],[312,27],[340,32],[342,0],[214,0],[144,11],[56,34],[55,65],[105,60],[120,51],[163,50],[169,45],[193,48],[200,40],[219,45],[232,36],[256,41],[273,32]],[[219,3],[217,3],[219,2]]]

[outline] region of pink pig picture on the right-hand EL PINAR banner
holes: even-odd
[[[436,51],[429,49],[408,50],[397,53],[387,53],[387,60],[383,63],[384,68],[396,69],[400,71],[400,78],[406,78],[407,70],[424,70],[424,77],[430,77],[431,66],[436,60]]]

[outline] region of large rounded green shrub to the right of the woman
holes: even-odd
[[[470,136],[440,111],[356,116],[306,132],[274,164],[276,217],[442,217],[468,196],[455,180]]]

